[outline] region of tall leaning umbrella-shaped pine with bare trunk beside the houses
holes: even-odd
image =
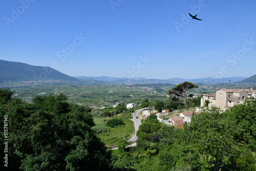
[[[172,88],[172,90],[168,90],[167,92],[168,95],[176,95],[178,99],[183,101],[190,118],[192,118],[192,115],[188,110],[186,100],[188,98],[188,91],[194,88],[198,88],[198,86],[192,82],[184,81],[183,83],[178,84],[176,87]]]

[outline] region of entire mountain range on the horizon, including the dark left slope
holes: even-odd
[[[170,79],[147,79],[143,77],[127,78],[127,77],[91,77],[78,76],[71,77],[63,74],[50,67],[32,66],[22,62],[12,62],[7,60],[0,60],[0,82],[4,81],[26,81],[26,80],[63,80],[63,81],[82,81],[92,83],[174,83],[179,84],[184,81],[197,83],[198,86],[203,84],[216,83],[241,83],[256,85],[256,75],[249,78],[246,77],[228,77],[228,78],[170,78]]]

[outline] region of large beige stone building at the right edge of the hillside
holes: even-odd
[[[221,89],[216,94],[203,94],[201,98],[201,106],[205,105],[205,100],[209,100],[208,106],[217,106],[221,110],[225,111],[232,106],[241,104],[248,96],[252,96],[256,93],[251,89]]]

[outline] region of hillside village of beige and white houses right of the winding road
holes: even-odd
[[[221,89],[216,93],[203,94],[201,97],[201,107],[189,109],[191,115],[201,114],[202,109],[206,109],[206,106],[211,108],[216,106],[225,112],[227,109],[232,108],[234,105],[244,103],[246,98],[256,98],[256,90],[251,89]],[[136,107],[137,104],[129,103],[126,105],[127,109]],[[177,110],[169,112],[168,109],[162,109],[161,112],[154,109],[146,109],[141,111],[139,118],[146,119],[150,114],[156,114],[157,120],[166,125],[173,125],[183,129],[185,124],[191,122],[191,118],[186,110]]]

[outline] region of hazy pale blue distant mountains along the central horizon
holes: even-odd
[[[193,83],[198,83],[200,86],[204,84],[214,84],[214,83],[231,83],[237,82],[245,79],[246,77],[228,77],[228,78],[197,78],[197,79],[185,79],[185,78],[170,78],[170,79],[147,79],[143,77],[138,78],[118,78],[118,77],[87,77],[87,76],[79,76],[76,77],[78,79],[93,79],[99,81],[106,81],[108,83],[174,83],[179,84],[184,81],[189,81]]]

